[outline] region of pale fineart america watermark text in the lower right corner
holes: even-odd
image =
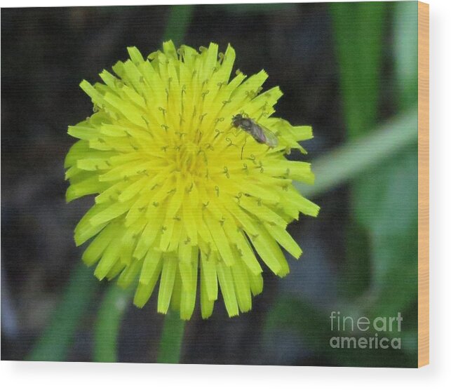
[[[396,317],[368,318],[344,316],[339,311],[331,311],[329,318],[330,330],[335,334],[329,341],[332,348],[401,349],[403,317],[399,312]],[[383,332],[383,337],[379,332]],[[397,337],[387,337],[391,332],[395,332]],[[352,333],[356,336],[352,336]]]

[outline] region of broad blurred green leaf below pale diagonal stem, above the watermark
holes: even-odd
[[[417,300],[417,162],[414,145],[354,187],[356,215],[372,243],[368,310],[379,315]]]

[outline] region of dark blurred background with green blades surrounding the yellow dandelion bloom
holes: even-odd
[[[290,224],[304,254],[283,279],[265,269],[252,311],[228,318],[218,301],[203,321],[197,304],[181,363],[417,365],[413,1],[2,8],[1,359],[95,361],[105,341],[112,360],[156,361],[154,297],[137,309],[81,264],[73,229],[93,199],[65,203],[63,160],[67,126],[92,113],[79,82],[164,39],[231,43],[236,68],[269,73],[265,87],[284,93],[277,115],[314,128],[309,154],[290,159],[313,163],[315,186],[299,190],[321,206]],[[400,312],[402,348],[330,348],[331,311]]]

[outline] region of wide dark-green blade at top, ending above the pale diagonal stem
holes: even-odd
[[[330,4],[346,131],[354,138],[377,121],[386,4]]]

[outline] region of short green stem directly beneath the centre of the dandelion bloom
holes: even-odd
[[[182,351],[184,321],[177,313],[168,312],[161,333],[157,363],[179,363]]]

